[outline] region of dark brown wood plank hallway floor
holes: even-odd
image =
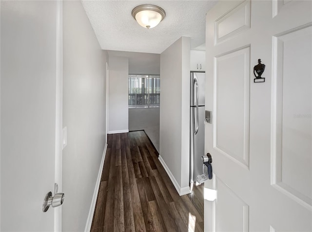
[[[108,135],[91,232],[202,232],[203,186],[179,196],[144,131]]]

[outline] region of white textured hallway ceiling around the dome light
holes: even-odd
[[[205,43],[206,13],[215,1],[86,0],[82,4],[102,49],[160,54],[181,36],[191,37],[191,49],[200,48]],[[141,27],[131,15],[141,4],[162,7],[166,17],[155,28]]]

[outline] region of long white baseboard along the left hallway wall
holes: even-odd
[[[106,150],[107,150],[107,143],[105,144],[101,164],[99,165],[98,179],[96,182],[96,187],[94,189],[94,193],[93,193],[93,197],[92,197],[92,201],[91,201],[91,206],[90,206],[90,211],[89,211],[88,218],[87,218],[86,227],[84,228],[85,232],[90,232],[90,230],[91,230],[93,214],[94,214],[94,211],[96,209],[96,203],[97,203],[97,198],[98,198],[99,184],[101,182],[101,177],[102,177],[102,171],[103,171],[103,166],[104,166]]]

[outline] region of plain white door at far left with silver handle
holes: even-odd
[[[1,23],[0,231],[61,231],[61,1],[3,1]]]

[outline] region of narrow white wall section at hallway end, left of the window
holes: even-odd
[[[109,133],[128,132],[128,58],[109,56]]]

